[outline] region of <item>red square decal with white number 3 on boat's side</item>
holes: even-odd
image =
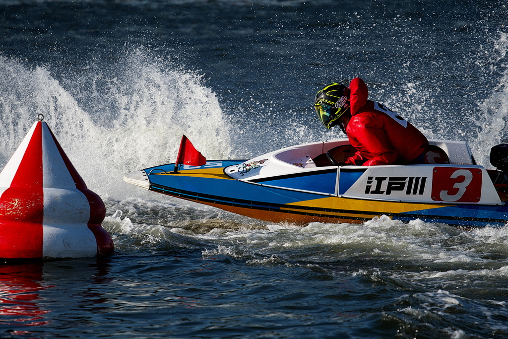
[[[478,202],[482,194],[482,170],[434,167],[432,200]]]

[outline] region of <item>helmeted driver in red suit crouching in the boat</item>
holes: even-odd
[[[427,138],[387,107],[367,100],[360,78],[349,87],[331,84],[316,94],[314,108],[327,128],[340,125],[357,149],[347,165],[423,164]]]

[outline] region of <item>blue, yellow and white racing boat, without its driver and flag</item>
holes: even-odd
[[[477,165],[466,142],[429,140],[422,165],[342,166],[347,139],[296,145],[250,160],[175,164],[127,173],[146,190],[270,222],[363,223],[385,214],[464,228],[508,222],[508,144]]]

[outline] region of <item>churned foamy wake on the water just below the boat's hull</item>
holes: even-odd
[[[394,274],[400,276],[394,275],[394,279],[407,280],[409,276],[413,284],[425,286],[439,275],[441,288],[447,289],[463,288],[465,277],[480,282],[508,271],[504,261],[497,260],[508,257],[506,228],[464,231],[420,220],[404,224],[385,215],[363,225],[238,227],[239,224],[228,225],[227,221],[212,223],[209,220],[211,227],[207,232],[196,229],[193,233],[189,228],[133,224],[129,218],[121,219],[118,213],[105,220],[105,225],[116,234],[115,243],[127,252],[135,250],[133,243],[166,251],[204,248],[203,258],[226,256],[256,265],[310,264],[334,270],[343,266],[344,270],[347,267],[348,271],[357,270],[360,274],[372,273],[363,271],[364,267],[390,267],[397,263],[399,266],[394,270],[398,273]]]

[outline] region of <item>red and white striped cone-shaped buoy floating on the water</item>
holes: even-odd
[[[0,258],[112,253],[102,199],[86,188],[42,118],[0,172]]]

